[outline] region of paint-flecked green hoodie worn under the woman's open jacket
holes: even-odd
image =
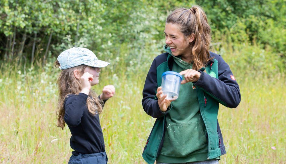
[[[179,73],[192,69],[192,63],[173,57],[173,71]],[[182,77],[184,80],[184,76]],[[196,89],[191,82],[180,86],[179,97],[172,102],[172,106],[166,116],[167,129],[163,147],[156,160],[162,163],[207,160],[206,129],[200,115]]]

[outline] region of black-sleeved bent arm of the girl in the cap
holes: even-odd
[[[65,101],[65,117],[67,125],[75,127],[80,124],[88,95],[79,93],[78,95],[68,96]]]

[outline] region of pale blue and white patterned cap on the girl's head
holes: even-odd
[[[73,47],[61,52],[59,57],[57,57],[57,60],[59,61],[59,64],[61,64],[61,66],[59,66],[61,70],[82,64],[100,68],[110,64],[108,62],[98,60],[91,50],[82,47]]]

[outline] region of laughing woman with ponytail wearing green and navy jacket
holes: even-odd
[[[225,154],[217,121],[219,103],[236,108],[239,86],[229,65],[209,51],[210,26],[199,6],[175,9],[166,19],[166,45],[147,74],[142,105],[157,118],[143,151],[153,164],[219,163]],[[183,75],[178,99],[166,100],[161,80],[165,71]]]

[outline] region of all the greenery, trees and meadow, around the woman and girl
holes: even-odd
[[[192,5],[206,12],[211,51],[241,87],[236,110],[220,107],[221,163],[283,163],[284,0],[0,0],[0,163],[67,163],[70,132],[55,126],[60,70],[52,63],[74,46],[111,63],[94,87],[116,87],[100,116],[110,163],[144,163],[154,123],[141,106],[144,80],[163,52],[168,13]]]

